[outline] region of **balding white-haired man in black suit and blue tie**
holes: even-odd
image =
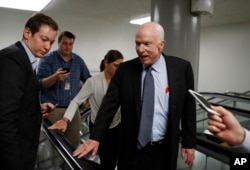
[[[90,139],[73,155],[80,158],[91,151],[92,156],[97,153],[103,134],[121,106],[118,170],[176,170],[180,142],[181,155],[190,165],[196,145],[195,101],[188,93],[188,89],[194,88],[191,64],[162,53],[164,30],[155,22],[139,27],[135,43],[138,58],[119,66],[102,101]],[[144,85],[150,67],[151,80]],[[144,92],[143,88],[149,84],[152,90]],[[149,92],[153,92],[151,97],[144,98]],[[153,105],[145,110],[145,103]],[[151,123],[144,125],[150,122],[144,115],[151,108]],[[148,126],[150,129],[141,135]],[[141,136],[149,139],[142,141]]]

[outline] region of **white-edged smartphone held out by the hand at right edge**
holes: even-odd
[[[211,104],[200,93],[193,91],[191,89],[189,89],[188,91],[196,99],[201,108],[203,108],[206,112],[210,114],[215,114],[217,116],[221,116],[219,113],[211,109],[210,107]]]

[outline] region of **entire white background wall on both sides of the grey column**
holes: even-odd
[[[0,8],[0,49],[20,40],[26,20],[32,12]],[[118,49],[125,60],[136,57],[134,35],[138,26],[91,17],[48,14],[60,30],[76,35],[74,52],[83,57],[90,71],[109,49]],[[250,22],[201,29],[198,91],[250,90]],[[55,43],[52,49],[57,49]],[[1,61],[1,60],[0,60]]]

